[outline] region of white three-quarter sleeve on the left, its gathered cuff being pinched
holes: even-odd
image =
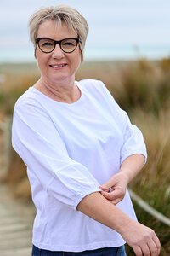
[[[34,102],[15,105],[12,143],[43,189],[68,207],[76,209],[84,196],[99,191],[97,180],[69,157],[53,120]]]

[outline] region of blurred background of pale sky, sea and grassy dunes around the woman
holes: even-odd
[[[29,40],[29,17],[39,8],[60,3],[76,8],[88,20],[85,61],[77,72],[77,80],[101,79],[144,134],[148,161],[129,188],[139,195],[133,198],[139,221],[156,230],[161,240],[161,255],[170,255],[169,0],[1,0],[0,202],[3,204],[0,203],[0,217],[4,216],[4,208],[10,213],[21,207],[21,212],[27,212],[25,220],[27,223],[29,220],[31,227],[35,214],[26,166],[11,147],[10,131],[14,102],[39,78]],[[6,206],[8,200],[13,207]],[[139,206],[140,200],[146,209]],[[156,210],[156,214],[150,214],[148,206]],[[17,211],[15,214],[20,216]],[[16,246],[13,221],[6,219],[0,224],[3,236],[10,233],[5,237],[13,240],[7,246],[0,231],[0,255],[13,255],[14,248],[18,256],[29,255],[23,251],[30,247],[29,243],[22,240]],[[23,234],[22,237],[28,236]],[[18,234],[18,240],[20,236]],[[31,239],[31,234],[29,237]],[[31,244],[31,240],[29,242]],[[129,247],[127,255],[133,255]]]

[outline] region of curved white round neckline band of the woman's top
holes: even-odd
[[[77,84],[77,87],[78,87],[78,90],[80,90],[81,96],[80,96],[80,98],[76,102],[72,102],[72,103],[59,102],[57,100],[54,100],[51,97],[49,97],[49,96],[45,95],[44,93],[42,93],[42,91],[40,91],[37,88],[33,87],[33,86],[31,86],[30,89],[36,91],[40,96],[48,99],[48,101],[51,101],[51,102],[54,102],[54,103],[57,103],[57,104],[63,105],[63,106],[75,106],[75,105],[79,104],[80,102],[82,102],[82,96],[83,96],[82,88],[80,88],[80,84],[77,81],[75,81],[75,84]]]

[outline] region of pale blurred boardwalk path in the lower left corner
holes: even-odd
[[[0,184],[0,255],[31,256],[31,230],[35,209],[16,200],[8,187]]]

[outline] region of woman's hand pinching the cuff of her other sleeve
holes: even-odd
[[[100,192],[105,198],[116,205],[125,196],[128,178],[123,172],[113,175],[106,183],[99,186]]]

